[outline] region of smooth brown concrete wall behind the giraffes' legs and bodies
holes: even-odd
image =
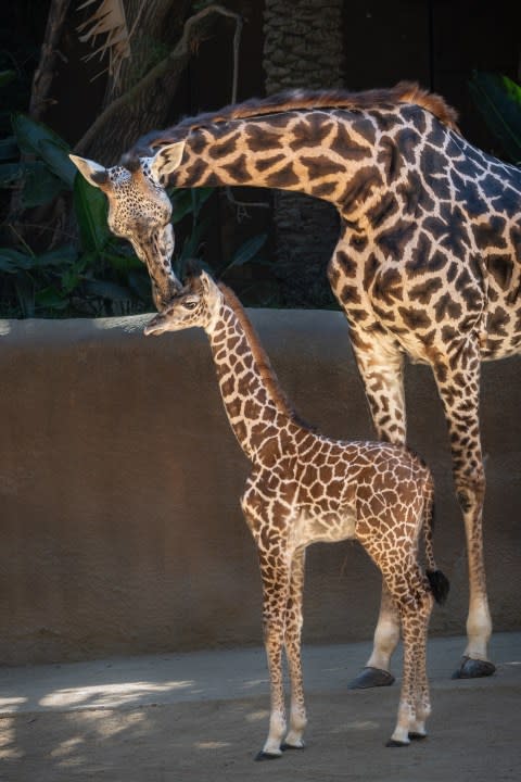
[[[251,311],[296,409],[372,436],[343,316]],[[262,642],[255,550],[239,507],[249,464],[206,337],[147,317],[0,321],[0,661]],[[485,365],[485,547],[496,630],[519,630],[521,364]],[[433,634],[465,630],[466,553],[445,424],[427,367],[407,368],[410,444],[437,483],[435,547],[452,579]],[[353,542],[309,550],[304,640],[372,636],[380,578]]]

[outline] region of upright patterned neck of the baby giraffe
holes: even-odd
[[[272,459],[281,430],[297,426],[277,376],[234,294],[224,298],[206,329],[220,394],[236,438],[250,459]]]

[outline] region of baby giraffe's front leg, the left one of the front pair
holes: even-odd
[[[282,649],[285,609],[289,598],[289,569],[271,551],[259,552],[263,579],[264,645],[269,670],[270,716],[268,737],[255,760],[271,760],[282,755],[281,744],[287,730]]]

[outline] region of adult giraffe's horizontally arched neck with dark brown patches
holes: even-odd
[[[317,150],[319,150],[317,152]],[[360,168],[377,165],[374,125],[343,111],[288,112],[191,130],[170,186],[294,190],[334,203]]]

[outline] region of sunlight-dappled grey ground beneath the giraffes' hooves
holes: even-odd
[[[454,681],[463,639],[429,645],[430,735],[384,746],[398,683],[350,691],[367,644],[304,649],[307,746],[255,762],[267,731],[263,649],[0,670],[1,782],[499,782],[521,779],[521,633],[494,677]],[[396,671],[401,661],[395,660]]]

